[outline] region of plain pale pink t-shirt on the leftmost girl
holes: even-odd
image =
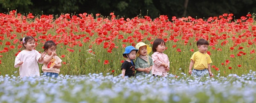
[[[44,60],[41,62],[38,62],[38,59],[41,57],[41,54],[37,50],[32,51],[25,51],[22,50],[15,58],[15,64],[14,67],[20,67],[20,77],[29,77],[29,76],[40,76],[39,72],[39,64],[43,64]],[[23,64],[20,66],[18,63],[20,61],[23,61]]]

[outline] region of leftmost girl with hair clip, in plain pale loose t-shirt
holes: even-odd
[[[40,76],[38,63],[44,63],[46,52],[40,54],[35,50],[35,39],[32,36],[26,36],[20,41],[22,41],[23,48],[26,48],[15,58],[14,67],[20,67],[20,78]]]

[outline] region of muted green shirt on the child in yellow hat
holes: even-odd
[[[140,72],[140,71],[137,71],[138,68],[146,68],[146,67],[150,67],[152,65],[154,65],[154,62],[151,58],[151,56],[148,56],[148,61],[145,61],[143,60],[142,58],[140,57],[137,57],[136,60],[135,60],[135,77],[138,76],[138,75],[144,75],[146,74],[147,72]],[[152,72],[150,71],[149,72],[151,75],[152,75]]]

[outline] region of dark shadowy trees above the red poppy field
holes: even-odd
[[[256,0],[0,0],[0,12],[17,9],[21,14],[87,14],[111,12],[119,17],[159,15],[168,17],[213,17],[232,13],[237,18],[256,13]],[[141,11],[140,11],[141,10]],[[43,11],[43,13],[42,13]]]

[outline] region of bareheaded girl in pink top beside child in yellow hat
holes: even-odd
[[[166,49],[165,42],[163,39],[155,39],[152,48],[154,52],[151,56],[154,61],[152,75],[166,77],[170,70],[170,61],[168,56],[163,53]]]

